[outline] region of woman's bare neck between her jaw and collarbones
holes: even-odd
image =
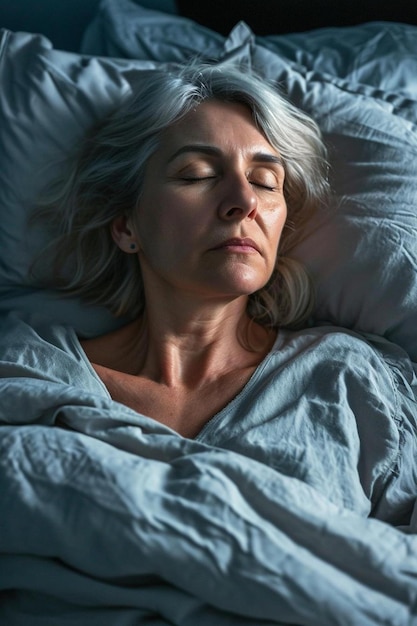
[[[251,322],[246,304],[246,296],[199,305],[185,298],[169,306],[147,301],[138,372],[170,387],[197,388],[231,369],[256,366],[273,337]]]

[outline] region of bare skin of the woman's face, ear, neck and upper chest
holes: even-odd
[[[112,226],[136,244],[146,314],[83,344],[116,400],[194,436],[242,389],[275,340],[246,306],[275,265],[283,184],[241,104],[205,102],[165,131],[137,215]]]

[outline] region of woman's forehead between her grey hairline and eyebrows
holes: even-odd
[[[256,126],[250,108],[236,102],[203,102],[162,134],[160,147],[169,152],[190,143],[214,145],[225,152],[262,148],[277,154]]]

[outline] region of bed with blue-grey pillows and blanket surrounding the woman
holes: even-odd
[[[417,507],[388,524],[333,486],[45,380],[42,345],[8,326],[12,314],[90,337],[120,324],[39,287],[46,234],[29,218],[142,71],[197,55],[257,69],[322,129],[331,207],[292,251],[316,284],[311,326],[371,334],[417,363],[417,25],[257,34],[237,20],[223,34],[173,2],[89,6],[66,49],[35,29],[1,32],[0,623],[417,624]],[[411,391],[410,406],[416,416]],[[62,415],[76,429],[54,427]]]

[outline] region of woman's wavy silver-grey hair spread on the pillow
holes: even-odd
[[[116,316],[143,312],[139,261],[115,244],[110,225],[137,211],[145,168],[163,131],[207,100],[246,104],[283,160],[287,222],[273,275],[249,296],[248,314],[265,326],[299,326],[311,311],[313,290],[288,253],[303,224],[326,202],[326,150],[310,117],[264,79],[230,63],[141,72],[129,96],[87,135],[65,183],[45,205],[44,214],[58,228],[54,286]]]

